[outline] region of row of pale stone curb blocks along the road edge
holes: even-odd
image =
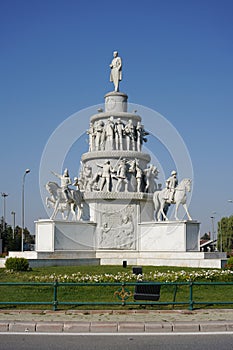
[[[0,333],[232,332],[233,322],[23,322],[1,321]]]

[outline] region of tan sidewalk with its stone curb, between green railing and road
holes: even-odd
[[[0,310],[0,332],[232,332],[233,310]]]

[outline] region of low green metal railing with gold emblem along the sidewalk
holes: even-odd
[[[1,289],[0,289],[0,306],[1,305],[49,305],[52,306],[53,310],[56,311],[58,309],[58,306],[83,306],[83,305],[92,305],[92,306],[100,306],[100,305],[172,305],[173,307],[175,305],[183,305],[187,306],[189,310],[193,310],[196,305],[233,305],[233,293],[232,294],[232,300],[224,301],[224,300],[200,300],[200,297],[198,297],[198,293],[200,292],[200,287],[213,287],[215,286],[233,286],[233,282],[140,282],[140,285],[159,285],[161,286],[161,297],[166,294],[166,288],[170,287],[170,294],[172,294],[172,300],[162,300],[162,301],[151,301],[151,300],[140,300],[135,301],[134,300],[134,292],[132,291],[132,288],[137,285],[138,282],[112,282],[112,283],[65,283],[65,282],[0,282],[1,286],[9,286],[9,287],[33,287],[33,288],[40,288],[40,287],[50,287],[51,288],[51,294],[52,298],[51,301],[2,301],[1,299]],[[185,300],[179,300],[177,301],[177,294],[178,291],[181,290],[181,288],[185,287],[187,288],[187,291],[185,293]],[[59,289],[61,287],[70,288],[70,287],[116,287],[117,289],[111,294],[111,301],[87,301],[85,300],[85,292],[79,293],[79,296],[82,296],[84,298],[84,301],[64,301],[64,295],[62,298],[59,298]],[[172,287],[172,288],[171,288]],[[198,291],[195,291],[195,287],[198,287]],[[131,289],[131,290],[130,290]],[[171,291],[172,290],[172,291]],[[194,297],[194,291],[196,293],[196,297]],[[72,293],[69,294],[72,296]],[[69,295],[66,296],[69,299]],[[205,295],[208,296],[208,293],[205,293]],[[98,296],[96,296],[98,299]],[[70,298],[72,299],[72,298]],[[114,301],[112,301],[114,300]],[[117,301],[118,300],[118,301]]]

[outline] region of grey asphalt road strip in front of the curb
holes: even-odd
[[[0,334],[1,350],[229,350],[233,334],[46,335]]]

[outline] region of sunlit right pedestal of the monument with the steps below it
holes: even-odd
[[[101,265],[223,268],[225,253],[200,252],[200,223],[162,221],[138,224],[137,249],[97,250]]]

